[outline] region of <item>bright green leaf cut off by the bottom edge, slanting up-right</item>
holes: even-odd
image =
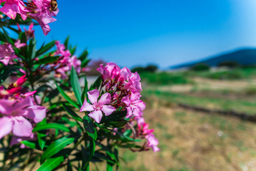
[[[64,157],[48,158],[37,171],[51,171],[64,161]]]

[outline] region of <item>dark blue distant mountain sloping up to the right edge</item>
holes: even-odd
[[[215,55],[210,58],[205,58],[194,62],[178,64],[176,66],[170,67],[170,69],[188,68],[194,66],[197,63],[205,63],[211,67],[216,67],[218,66],[219,63],[226,61],[234,61],[243,66],[256,64],[256,48],[246,48],[232,52],[227,52],[224,54]]]

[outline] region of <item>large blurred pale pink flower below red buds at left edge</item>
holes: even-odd
[[[34,105],[31,97],[25,99],[0,99],[0,139],[13,132],[18,137],[29,137],[32,124],[25,117],[39,123],[46,117],[46,108]]]

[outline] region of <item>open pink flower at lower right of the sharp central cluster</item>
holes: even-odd
[[[127,105],[127,115],[126,118],[132,116],[141,116],[141,111],[143,111],[146,107],[146,104],[139,100],[140,92],[139,91],[132,91],[131,96],[123,97],[121,101],[123,101]]]

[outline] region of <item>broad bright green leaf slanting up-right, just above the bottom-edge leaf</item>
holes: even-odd
[[[54,141],[51,145],[48,146],[46,151],[42,154],[40,162],[41,164],[50,158],[54,154],[60,152],[60,150],[64,149],[68,144],[71,144],[75,141],[75,138],[64,136],[61,139]]]

